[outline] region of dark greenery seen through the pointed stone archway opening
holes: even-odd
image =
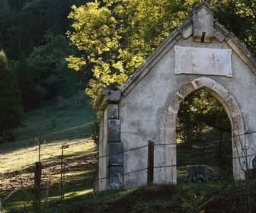
[[[204,164],[231,178],[231,124],[222,104],[206,91],[195,91],[181,103],[176,122],[178,181],[186,180],[189,164]]]

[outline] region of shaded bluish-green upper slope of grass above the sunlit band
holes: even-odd
[[[35,139],[39,139],[39,132],[41,141],[47,144],[90,138],[95,119],[94,110],[88,97],[79,106],[73,105],[77,98],[80,97],[69,98],[71,104],[66,108],[59,109],[59,103],[53,101],[46,107],[26,113],[24,127],[14,132],[15,141],[0,144],[0,154],[36,146]]]

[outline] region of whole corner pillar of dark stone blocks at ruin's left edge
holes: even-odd
[[[120,142],[119,106],[120,91],[104,91],[98,100],[103,111],[100,125],[99,164],[94,191],[123,187],[123,144]]]

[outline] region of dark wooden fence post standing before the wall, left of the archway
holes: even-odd
[[[148,176],[147,184],[152,185],[154,183],[154,145],[155,141],[149,140],[148,146]]]

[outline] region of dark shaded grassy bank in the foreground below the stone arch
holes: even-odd
[[[250,182],[251,197],[256,196],[255,181]],[[239,183],[200,183],[143,186],[134,190],[104,192],[85,197],[84,204],[71,213],[129,212],[248,212],[245,181]],[[69,202],[67,202],[69,203]],[[256,207],[255,202],[252,208]]]

